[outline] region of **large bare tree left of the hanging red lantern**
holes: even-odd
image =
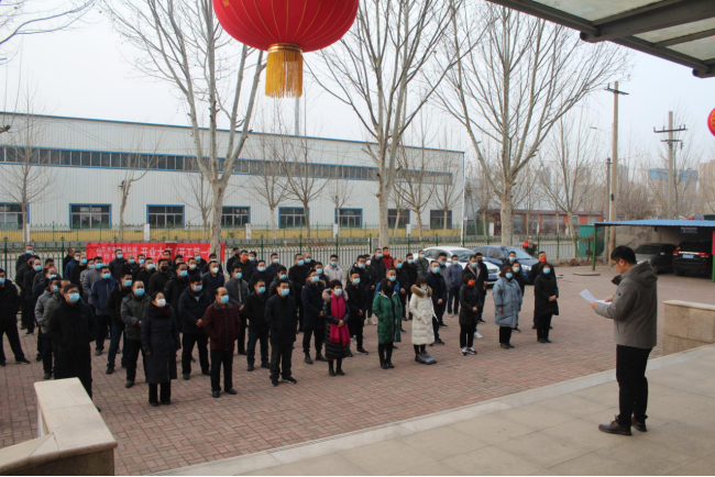
[[[196,164],[211,191],[210,242],[211,249],[218,252],[223,199],[251,130],[265,66],[263,52],[241,47],[229,38],[210,0],[109,2],[116,29],[142,54],[136,60],[139,70],[168,81],[180,92]],[[245,76],[250,79],[244,80]],[[202,111],[207,110],[204,120]],[[220,121],[228,129],[221,152]]]

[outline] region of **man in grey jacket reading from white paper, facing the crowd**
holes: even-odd
[[[632,248],[618,246],[610,254],[618,284],[609,303],[591,303],[596,313],[614,321],[616,380],[620,414],[598,429],[609,434],[631,435],[630,428],[646,432],[648,407],[648,356],[657,343],[658,277],[649,263],[637,265]]]

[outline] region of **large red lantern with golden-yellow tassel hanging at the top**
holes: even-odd
[[[302,53],[330,46],[352,26],[358,0],[213,0],[231,36],[268,52],[266,96],[302,95]]]

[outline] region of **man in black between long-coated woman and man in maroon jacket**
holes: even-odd
[[[191,354],[194,345],[199,351],[199,364],[205,376],[210,375],[209,336],[201,328],[206,309],[211,304],[211,297],[204,290],[201,277],[191,277],[190,285],[179,298],[178,311],[182,322],[182,378],[188,380],[191,375]]]

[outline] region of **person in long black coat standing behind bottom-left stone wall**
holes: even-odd
[[[91,343],[97,335],[95,315],[80,300],[79,288],[63,288],[63,301],[50,317],[47,336],[57,346],[55,379],[79,378],[92,397]]]

